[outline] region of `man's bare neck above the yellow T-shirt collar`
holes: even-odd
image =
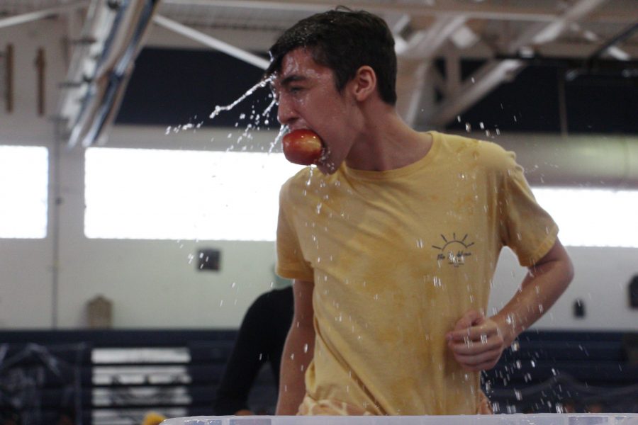
[[[432,138],[408,126],[393,106],[385,103],[364,111],[365,129],[346,158],[352,169],[386,171],[398,169],[425,157]]]

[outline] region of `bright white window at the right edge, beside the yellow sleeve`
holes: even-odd
[[[569,246],[638,248],[638,191],[534,188]]]

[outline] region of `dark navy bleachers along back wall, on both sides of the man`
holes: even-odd
[[[0,425],[212,415],[230,330],[0,331]],[[527,331],[483,384],[496,413],[638,412],[636,334]],[[252,409],[272,414],[264,368]],[[22,422],[20,422],[22,421]]]

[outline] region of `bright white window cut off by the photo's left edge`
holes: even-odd
[[[47,237],[49,152],[0,146],[0,238]]]

